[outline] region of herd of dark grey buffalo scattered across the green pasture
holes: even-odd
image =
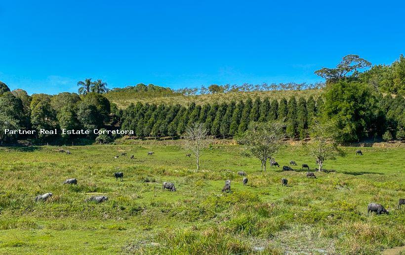
[[[63,152],[63,153],[66,152],[67,154],[71,154],[71,152],[68,151],[68,150],[66,150],[66,151],[59,150],[59,152]],[[148,156],[153,156],[154,153],[155,152],[153,152],[153,151],[149,151]],[[363,155],[363,152],[361,150],[357,150],[356,155]],[[121,156],[126,156],[126,153],[122,153]],[[191,153],[187,153],[186,157],[190,158]],[[117,155],[114,158],[119,158],[119,156]],[[130,158],[133,159],[134,155],[131,155]],[[318,164],[318,161],[316,163]],[[289,162],[289,165],[290,166],[297,166],[296,162],[293,161],[293,160],[291,160]],[[276,166],[280,167],[279,163],[277,163],[274,159],[270,159],[270,167],[276,167]],[[310,169],[308,164],[302,164],[302,170],[304,170],[304,169],[307,169],[307,170]],[[293,170],[293,169],[291,167],[289,167],[289,166],[283,166],[283,171],[288,171],[288,170]],[[247,181],[248,181],[248,179],[246,177],[246,173],[244,171],[238,171],[238,175],[243,176],[242,183],[243,183],[243,186],[245,186],[247,184]],[[118,180],[120,178],[120,180],[122,181],[123,176],[124,176],[124,173],[121,172],[121,171],[114,173],[114,177],[116,178],[116,180]],[[306,173],[306,176],[307,176],[307,178],[317,178],[315,173],[310,172],[310,171]],[[225,185],[222,188],[222,192],[231,192],[231,182],[232,181],[229,180],[229,179],[225,181]],[[281,183],[282,183],[282,186],[288,186],[288,180],[286,178],[282,178]],[[76,184],[77,185],[78,180],[76,178],[67,179],[67,180],[65,180],[63,182],[63,184]],[[162,189],[167,189],[169,191],[176,191],[176,187],[174,186],[174,183],[172,183],[172,182],[163,182]],[[45,201],[45,200],[49,199],[50,197],[52,197],[52,193],[49,192],[49,193],[45,193],[45,194],[42,194],[42,195],[38,195],[37,197],[34,198],[34,201],[35,202]],[[91,196],[90,198],[85,199],[84,202],[102,203],[102,202],[107,201],[107,200],[108,200],[108,197],[106,197],[106,196]],[[401,205],[405,205],[405,199],[400,199],[399,200],[398,209],[401,209]],[[375,204],[375,203],[368,204],[368,206],[367,206],[367,215],[370,212],[374,212],[374,213],[377,213],[377,214],[381,214],[381,213],[389,214],[389,212],[382,205]]]

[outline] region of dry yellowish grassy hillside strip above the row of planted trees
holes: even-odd
[[[137,92],[130,91],[110,91],[105,96],[119,108],[125,108],[130,103],[155,103],[155,104],[181,104],[188,105],[195,102],[197,105],[212,102],[229,102],[232,100],[246,100],[248,97],[260,97],[269,99],[281,99],[282,97],[290,98],[291,95],[303,96],[306,99],[311,95],[317,98],[322,93],[322,89],[304,89],[304,90],[267,90],[267,91],[238,91],[227,93],[214,93],[203,95],[183,95],[173,93],[165,96],[139,96]]]

